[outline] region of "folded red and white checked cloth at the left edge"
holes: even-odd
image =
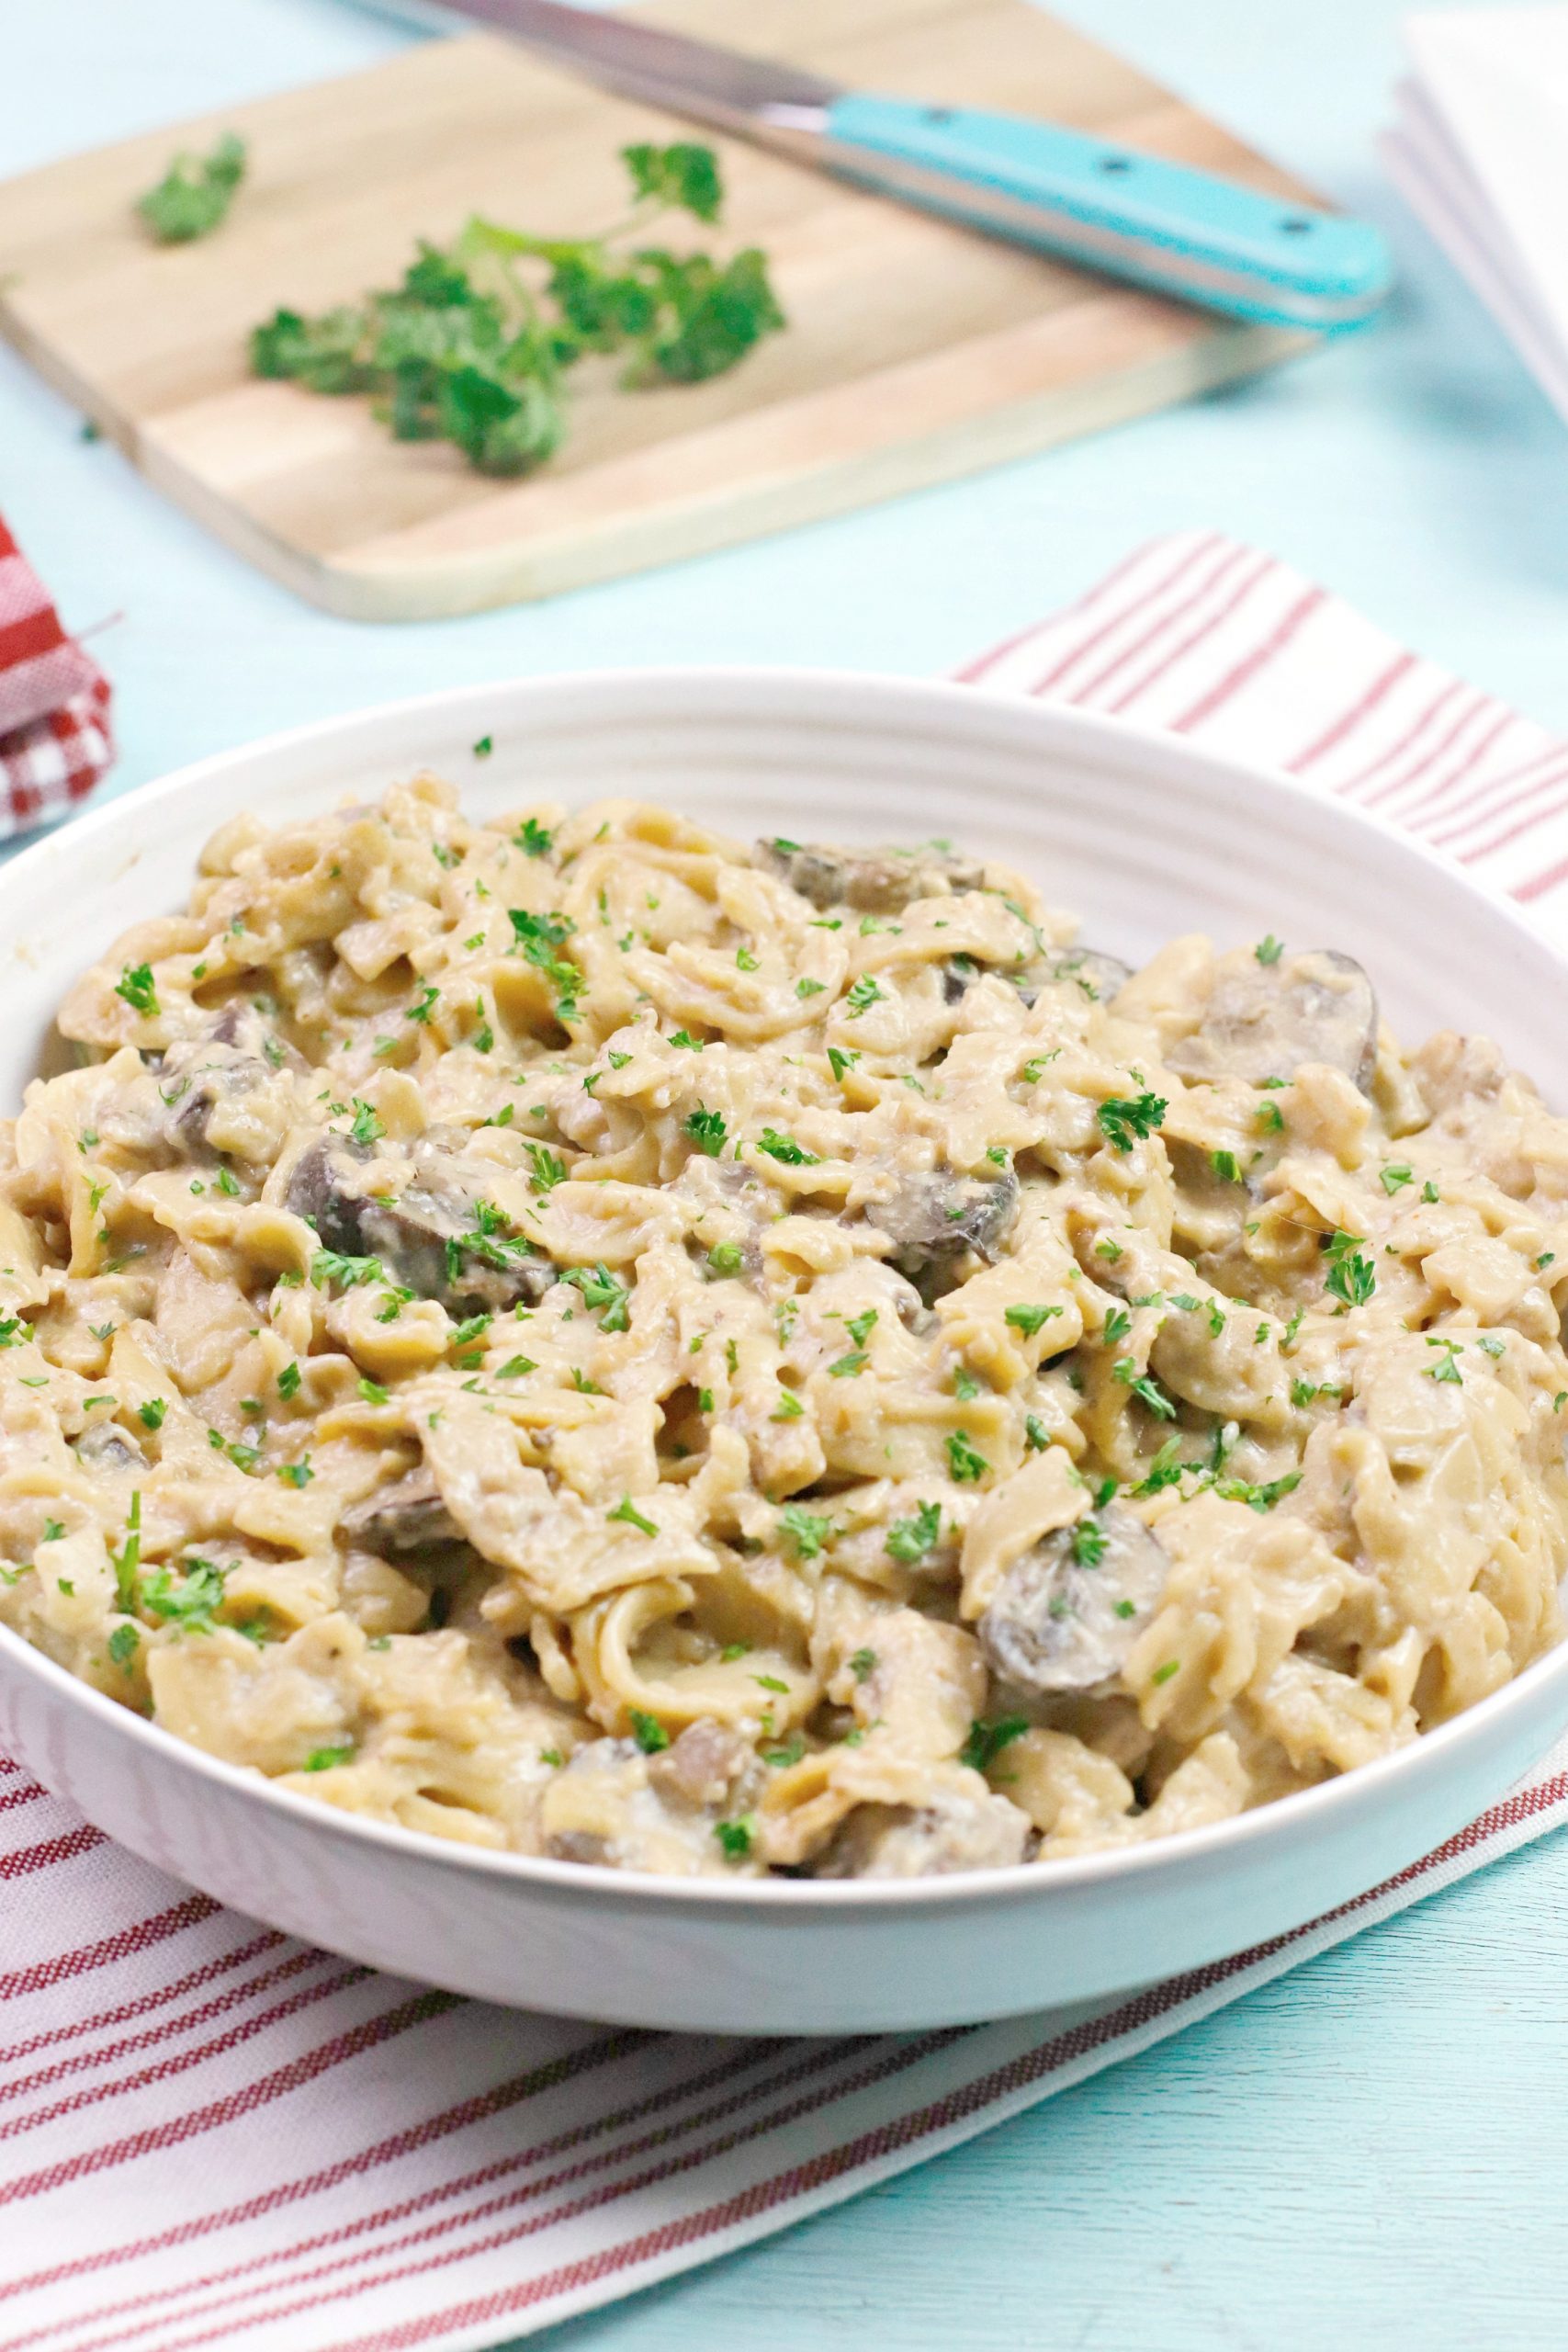
[[[108,680],[0,520],[0,840],[63,816],[113,757]]]

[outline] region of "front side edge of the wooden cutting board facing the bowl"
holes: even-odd
[[[1178,400],[1246,381],[1319,348],[1321,339],[1291,327],[1239,327],[1157,353],[1112,376],[1053,386],[1032,400],[973,416],[938,433],[886,447],[867,466],[844,459],[816,473],[752,482],[724,499],[698,499],[590,532],[571,532],[529,548],[425,557],[418,569],[393,572],[388,557],[306,557],[273,539],[240,508],[209,499],[202,485],[155,440],[136,437],[132,461],[153,487],[172,496],[205,529],[244,555],[282,588],[341,621],[451,621],[465,614],[531,604],[611,579],[628,579],[672,562],[689,562],[769,539],[811,522],[827,522],[865,506],[938,489],[1079,437],[1093,426],[1131,423]],[[113,430],[113,428],[110,428]],[[381,541],[383,550],[395,539]]]

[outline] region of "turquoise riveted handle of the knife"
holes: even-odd
[[[1375,228],[1084,132],[844,96],[823,162],[931,212],[1232,318],[1349,327],[1389,289]]]

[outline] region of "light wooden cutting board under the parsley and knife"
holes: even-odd
[[[1051,115],[1302,198],[1227,132],[1025,0],[682,0],[665,24],[837,80]],[[228,223],[155,247],[132,202],[176,146],[249,141]],[[574,397],[564,449],[489,482],[393,442],[364,400],[247,374],[280,303],[393,285],[470,212],[581,235],[616,151],[708,136],[489,35],[228,108],[0,186],[0,329],[172,499],[329,612],[409,621],[585,581],[919,489],[1248,374],[1302,346],[1232,327],[719,141],[724,238],[790,318],[705,386]]]

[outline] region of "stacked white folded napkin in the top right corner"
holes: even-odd
[[[1568,419],[1568,7],[1406,16],[1389,176]]]

